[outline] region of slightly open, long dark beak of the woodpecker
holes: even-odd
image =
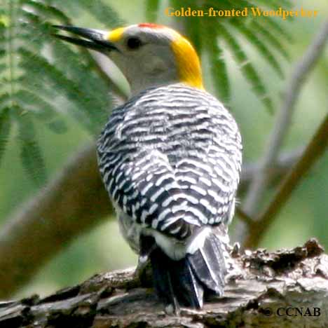
[[[64,25],[53,25],[53,27],[55,27],[55,29],[61,29],[62,31],[71,32],[72,34],[83,37],[83,39],[81,39],[71,38],[70,36],[64,36],[62,34],[53,34],[53,36],[57,39],[76,44],[77,46],[97,50],[100,51],[100,53],[105,53],[110,50],[118,50],[113,43],[107,40],[108,32],[100,31],[99,29],[86,29],[84,27]]]

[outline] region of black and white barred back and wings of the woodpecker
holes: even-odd
[[[173,84],[132,97],[112,112],[97,150],[104,184],[128,228],[184,242],[231,221],[241,138],[231,114],[205,91]],[[128,241],[138,251],[139,236]]]

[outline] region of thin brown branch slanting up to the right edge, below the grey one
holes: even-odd
[[[261,237],[268,228],[270,228],[277,214],[287,203],[287,200],[292,195],[297,184],[305,177],[308,170],[310,170],[311,166],[315,163],[315,160],[322,156],[327,149],[327,131],[328,115],[324,118],[324,121],[306,147],[303,156],[282,182],[270,205],[268,205],[268,208],[259,216],[259,219],[254,221],[254,224],[250,226],[250,233],[245,240],[245,247],[257,247],[259,245],[259,240],[261,240]]]

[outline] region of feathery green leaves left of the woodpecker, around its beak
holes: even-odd
[[[97,135],[111,109],[111,97],[104,97],[107,80],[90,53],[51,35],[51,25],[71,24],[73,12],[87,12],[109,27],[119,24],[116,13],[100,0],[69,1],[69,5],[13,0],[0,9],[0,160],[15,123],[22,165],[37,186],[45,181],[46,168],[36,121],[63,133],[66,112]]]

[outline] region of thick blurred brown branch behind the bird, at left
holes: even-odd
[[[111,213],[90,144],[1,227],[0,297],[18,290],[46,259]]]

